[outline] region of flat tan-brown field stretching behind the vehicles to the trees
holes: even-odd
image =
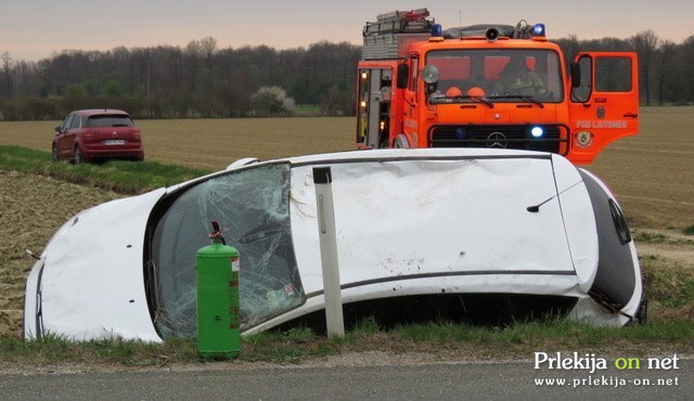
[[[0,144],[50,151],[60,121],[0,122]],[[270,159],[354,150],[356,121],[331,118],[136,121],[145,157],[222,169],[241,157]],[[641,132],[613,143],[587,168],[616,193],[632,223],[682,230],[694,224],[694,107],[642,107]]]

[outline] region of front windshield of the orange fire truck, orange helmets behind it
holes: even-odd
[[[558,103],[562,65],[552,50],[434,50],[426,65],[438,69],[433,104],[464,102]]]

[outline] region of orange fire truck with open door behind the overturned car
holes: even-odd
[[[446,31],[426,9],[363,28],[357,145],[500,147],[590,164],[639,130],[633,52],[583,52],[567,65],[543,24]]]

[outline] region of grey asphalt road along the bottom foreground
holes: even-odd
[[[645,361],[644,361],[645,362]],[[618,371],[534,368],[513,363],[404,366],[227,367],[194,365],[153,371],[0,373],[1,400],[460,400],[460,399],[687,399],[694,361],[678,368]],[[232,367],[229,367],[232,366]],[[564,385],[539,385],[564,378]],[[658,383],[661,379],[663,383]],[[648,380],[648,381],[646,381]],[[669,381],[668,381],[669,380]],[[669,383],[669,385],[668,385]]]

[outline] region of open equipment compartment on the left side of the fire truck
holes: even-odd
[[[393,69],[360,68],[359,79],[357,143],[363,147],[385,147],[390,121]]]

